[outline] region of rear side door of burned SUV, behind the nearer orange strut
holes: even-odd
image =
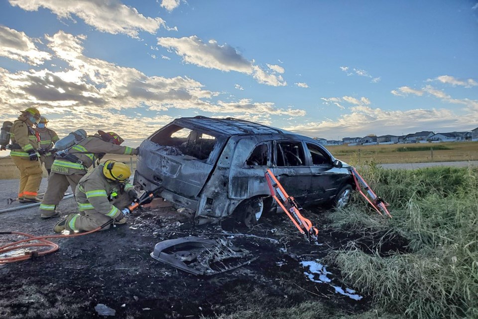
[[[289,196],[299,204],[307,202],[311,170],[300,141],[274,141],[272,172]]]

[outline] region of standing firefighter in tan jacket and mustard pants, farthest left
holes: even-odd
[[[11,126],[10,157],[20,170],[20,185],[18,201],[20,203],[38,203],[38,188],[41,183],[41,164],[37,152],[38,138],[33,125],[40,120],[40,112],[35,108],[28,108],[21,112],[18,120]]]

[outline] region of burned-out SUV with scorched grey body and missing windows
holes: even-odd
[[[134,184],[176,207],[195,212],[198,224],[234,216],[246,225],[277,205],[264,172],[270,168],[302,206],[350,199],[349,165],[317,141],[234,118],[179,118],[141,143]]]

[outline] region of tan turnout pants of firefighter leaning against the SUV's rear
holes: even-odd
[[[55,209],[63,198],[68,186],[75,193],[76,185],[84,175],[63,175],[52,171],[48,177],[48,187],[40,204],[39,212],[42,216],[55,215]]]

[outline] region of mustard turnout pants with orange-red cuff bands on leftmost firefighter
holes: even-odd
[[[20,185],[18,187],[18,199],[35,198],[41,183],[41,164],[38,160],[24,160],[18,156],[12,156],[11,160],[20,170]]]

